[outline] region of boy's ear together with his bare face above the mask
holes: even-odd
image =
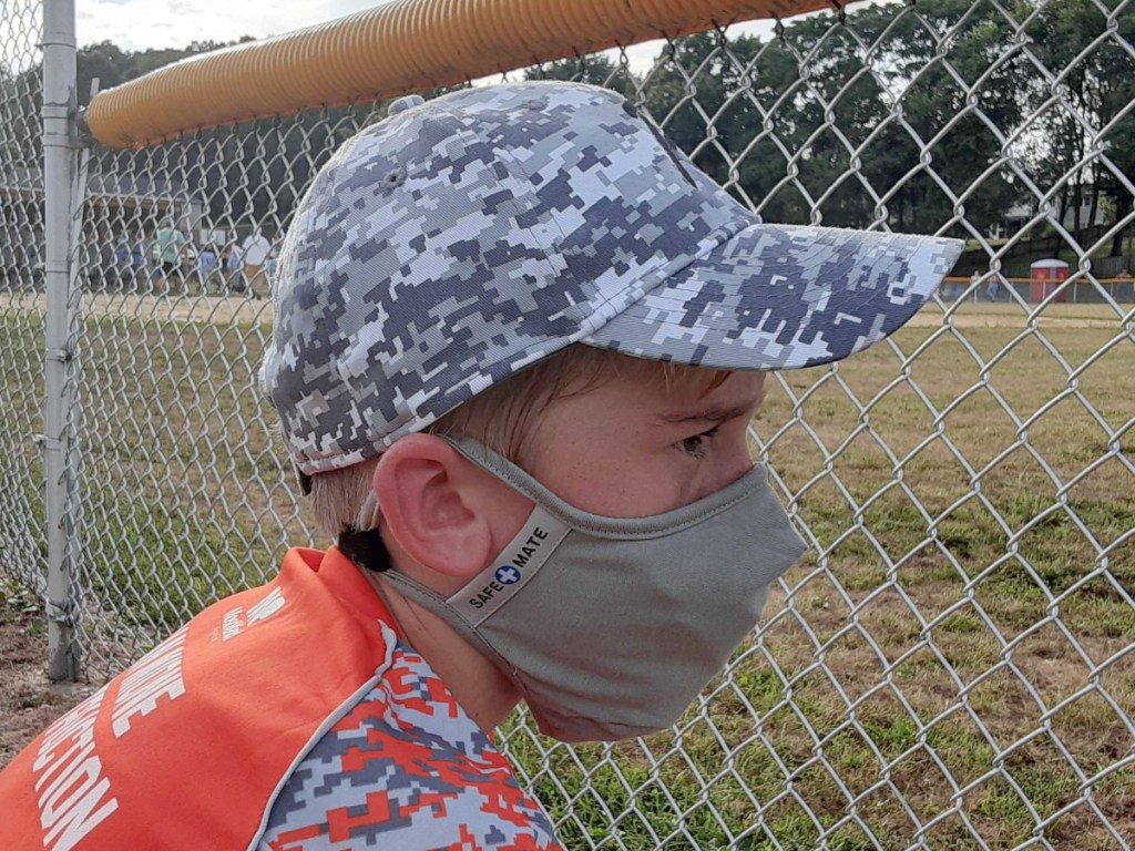
[[[515,462],[580,511],[663,514],[753,469],[748,426],[763,396],[760,372],[686,369],[667,382],[661,364],[634,362],[594,385],[569,386],[536,418]],[[533,502],[452,448],[439,455],[435,441],[395,444],[376,467],[376,491],[394,563],[448,597],[489,566]]]

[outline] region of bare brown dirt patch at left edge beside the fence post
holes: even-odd
[[[0,584],[0,768],[94,689],[47,677],[48,638],[35,598]]]

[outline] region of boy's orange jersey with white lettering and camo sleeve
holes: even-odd
[[[337,550],[288,551],[0,773],[0,848],[558,848],[393,623]]]

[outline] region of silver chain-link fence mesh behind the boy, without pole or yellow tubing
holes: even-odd
[[[41,15],[0,12],[0,570],[43,591]],[[81,99],[144,58],[112,53],[79,52]],[[755,450],[812,553],[754,643],[667,733],[569,748],[516,716],[522,778],[571,849],[1129,849],[1135,314],[1110,279],[1135,269],[1135,2],[883,3],[640,56],[512,77],[619,89],[768,219],[969,251],[891,342],[773,382]],[[382,112],[93,151],[68,515],[92,680],[310,539],[234,248],[278,244]],[[1066,284],[1010,286],[1049,256]]]

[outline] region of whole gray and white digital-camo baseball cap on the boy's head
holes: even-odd
[[[604,89],[404,99],[301,201],[261,385],[310,475],[572,343],[725,369],[847,357],[917,312],[960,250],[762,224]]]

